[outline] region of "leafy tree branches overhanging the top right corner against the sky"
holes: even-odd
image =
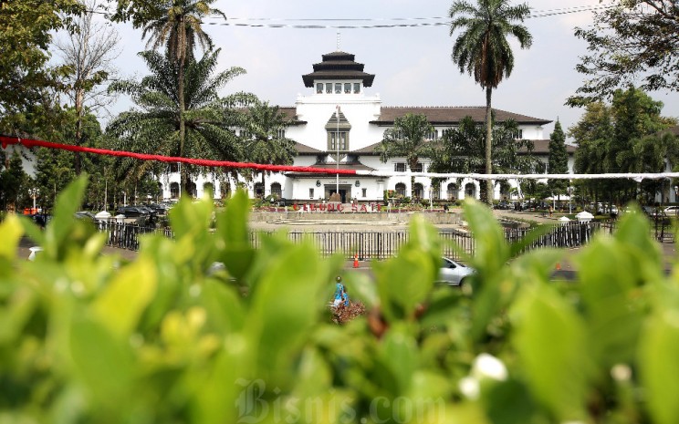
[[[617,0],[594,13],[594,25],[576,28],[590,55],[577,70],[587,80],[567,104],[612,98],[618,88],[679,90],[679,7],[675,0]]]

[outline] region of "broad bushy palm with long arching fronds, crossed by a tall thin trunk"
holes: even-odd
[[[213,77],[217,67],[219,49],[205,54],[200,61],[187,63],[184,74],[185,109],[179,105],[177,88],[178,65],[169,57],[154,51],[140,53],[151,69],[151,75],[138,81],[120,81],[110,89],[131,95],[139,107],[121,113],[113,119],[107,132],[117,138],[113,148],[123,147],[143,153],[183,156],[214,160],[243,160],[243,151],[233,130],[242,124],[235,107],[253,100],[252,95],[236,93],[220,98],[218,91],[232,78],[245,73],[232,67]],[[185,139],[182,144],[181,121],[185,122]],[[151,161],[133,168],[132,160],[121,160],[120,170],[149,171]],[[160,172],[157,169],[155,171]],[[193,175],[195,169],[182,166],[183,175]],[[187,179],[188,182],[188,179]]]

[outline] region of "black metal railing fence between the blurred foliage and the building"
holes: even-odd
[[[589,243],[594,233],[602,231],[611,233],[613,225],[614,222],[571,222],[554,225],[548,233],[538,237],[525,250],[579,247]],[[139,237],[142,234],[161,234],[168,238],[174,236],[170,229],[119,222],[100,222],[99,231],[108,233],[108,245],[129,250],[139,249]],[[526,237],[529,232],[529,229],[508,229],[505,231],[505,237],[508,243],[515,243]],[[266,234],[270,233],[251,232],[250,242],[258,247],[261,238]],[[439,235],[444,240],[444,256],[459,260],[461,252],[475,253],[475,240],[471,233],[442,232]],[[353,259],[358,255],[360,261],[390,258],[399,252],[409,238],[407,232],[291,232],[287,233],[287,236],[294,243],[308,240],[324,256],[340,253],[347,259]],[[458,248],[455,249],[454,245]]]

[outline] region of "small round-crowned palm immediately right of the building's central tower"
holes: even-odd
[[[381,143],[375,148],[380,160],[386,163],[390,158],[404,157],[408,169],[415,170],[420,157],[429,155],[427,134],[434,131],[424,115],[408,113],[393,121],[393,128],[386,129]],[[411,176],[411,197],[414,197],[415,177]]]

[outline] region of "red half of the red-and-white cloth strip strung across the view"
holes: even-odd
[[[332,170],[325,168],[313,168],[304,166],[287,166],[287,165],[263,165],[260,163],[248,163],[248,162],[232,162],[228,160],[205,160],[205,159],[191,159],[191,158],[176,158],[170,156],[161,155],[149,155],[145,153],[133,153],[131,151],[119,151],[119,150],[108,150],[108,149],[94,149],[83,146],[73,146],[70,144],[60,144],[53,143],[50,141],[43,140],[32,140],[32,139],[21,139],[18,137],[7,137],[0,135],[0,143],[2,143],[3,149],[6,149],[10,144],[20,144],[26,148],[32,147],[45,147],[47,149],[59,149],[68,151],[81,151],[84,153],[93,153],[98,155],[107,156],[119,156],[126,158],[133,158],[138,160],[159,160],[162,162],[182,162],[190,163],[192,165],[200,166],[214,166],[214,167],[228,167],[228,168],[247,168],[258,171],[290,171],[290,172],[310,172],[310,173],[322,173],[322,174],[340,174],[340,175],[356,175],[355,170]]]

